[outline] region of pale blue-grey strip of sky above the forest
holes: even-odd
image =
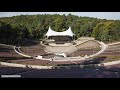
[[[60,14],[60,15],[87,16],[99,19],[120,20],[120,12],[0,12],[0,17],[11,17],[17,15],[35,15],[35,14]]]

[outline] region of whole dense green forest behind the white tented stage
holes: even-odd
[[[17,44],[25,40],[40,40],[49,26],[55,31],[64,31],[71,26],[76,38],[87,36],[104,42],[120,41],[120,20],[45,14],[0,18],[0,43]]]

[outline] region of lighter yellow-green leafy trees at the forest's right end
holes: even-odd
[[[120,22],[107,21],[98,23],[93,28],[92,36],[101,41],[119,41]]]

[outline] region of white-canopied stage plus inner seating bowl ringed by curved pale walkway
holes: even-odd
[[[28,50],[31,50],[32,53],[30,54],[28,53],[28,50],[26,50],[28,54],[24,54],[23,52],[26,51],[23,51],[24,49],[22,50],[21,47],[14,47],[14,50],[16,53],[24,57],[44,61],[47,60],[52,62],[54,61],[59,63],[60,62],[65,63],[73,61],[83,61],[86,60],[87,58],[95,57],[104,52],[104,50],[107,47],[107,45],[105,45],[103,42],[96,41],[92,37],[81,37],[78,38],[77,40],[74,39],[70,40],[70,37],[74,36],[74,33],[71,31],[70,27],[68,30],[64,32],[55,32],[51,30],[51,28],[49,27],[46,36],[47,39],[44,42],[41,41],[40,46],[37,47],[39,51],[38,50],[32,51],[32,49],[29,48]],[[38,52],[36,53],[36,51]],[[92,51],[92,53],[90,53],[89,51]]]

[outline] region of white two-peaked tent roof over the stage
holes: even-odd
[[[63,32],[56,32],[49,27],[48,32],[46,33],[47,37],[49,36],[71,36],[73,37],[73,35],[74,33],[72,32],[71,27],[69,27],[68,30],[63,31]]]

